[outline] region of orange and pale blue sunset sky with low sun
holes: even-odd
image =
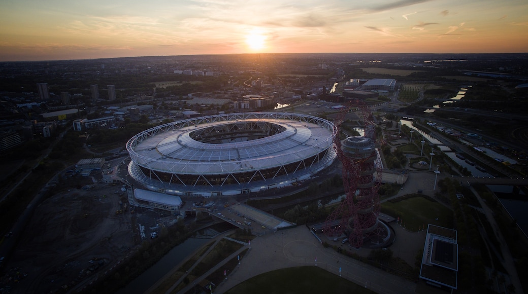
[[[0,61],[526,53],[526,0],[2,0]]]

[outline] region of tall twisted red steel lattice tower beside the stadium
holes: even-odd
[[[358,105],[365,122],[364,136],[348,136],[340,139],[341,123],[352,107],[347,107],[338,116],[334,127],[334,148],[337,158],[343,164],[343,186],[345,199],[327,218],[324,232],[328,236],[347,232],[352,246],[361,247],[364,242],[379,244],[386,236],[380,226],[378,197],[381,179],[381,164],[375,148],[374,123],[369,107]],[[336,225],[338,223],[338,225]]]

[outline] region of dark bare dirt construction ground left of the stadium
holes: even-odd
[[[128,201],[121,187],[90,186],[64,189],[36,208],[8,264],[8,270],[27,274],[12,283],[13,292],[65,292],[100,275],[134,247],[135,215],[124,209]]]

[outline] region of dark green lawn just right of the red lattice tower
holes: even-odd
[[[400,218],[400,224],[410,231],[427,228],[428,224],[452,228],[453,212],[432,199],[412,197],[398,202],[383,202],[381,212]]]

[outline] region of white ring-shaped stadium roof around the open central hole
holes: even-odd
[[[250,141],[209,144],[190,134],[229,123],[268,122],[284,131]],[[331,122],[288,113],[241,113],[197,117],[165,124],[127,143],[131,158],[146,168],[180,174],[225,174],[262,170],[319,154],[333,144]]]

